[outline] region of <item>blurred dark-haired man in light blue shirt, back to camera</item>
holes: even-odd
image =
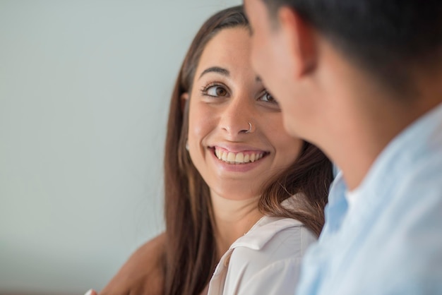
[[[297,294],[442,294],[442,1],[244,2],[285,128],[342,171]]]

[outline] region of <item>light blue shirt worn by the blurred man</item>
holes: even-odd
[[[442,104],[388,144],[351,203],[346,193],[338,174],[297,294],[442,294]]]

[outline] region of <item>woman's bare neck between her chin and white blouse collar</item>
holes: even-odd
[[[258,210],[258,200],[231,200],[215,193],[211,194],[215,217],[215,241],[218,259],[240,236],[253,227],[263,215]]]

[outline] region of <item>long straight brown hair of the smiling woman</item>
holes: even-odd
[[[201,293],[217,263],[209,188],[186,152],[189,103],[183,109],[181,95],[191,92],[196,67],[208,41],[220,30],[239,26],[249,28],[242,6],[227,8],[206,20],[191,43],[172,92],[165,147],[165,294],[168,295]],[[323,159],[318,160],[319,157]],[[310,162],[316,169],[309,166]],[[297,163],[270,183],[263,195],[268,201],[261,200],[260,208],[269,215],[292,217],[292,212],[278,211],[278,202],[288,198],[287,193],[301,191],[313,201],[306,202],[309,206],[300,205],[302,210],[293,216],[318,233],[323,225],[322,210],[331,165],[317,148],[307,143]],[[306,167],[309,170],[304,172],[302,169]],[[311,177],[311,181],[304,179],[306,177]],[[321,185],[321,189],[310,188],[317,185]],[[281,192],[279,188],[284,189]]]

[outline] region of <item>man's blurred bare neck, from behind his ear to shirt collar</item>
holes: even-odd
[[[433,61],[410,68],[412,85],[407,86],[413,92],[401,97],[328,42],[321,44],[321,63],[311,79],[313,98],[323,102],[323,111],[314,118],[321,124],[304,137],[342,169],[353,190],[393,138],[441,104],[442,66]]]

